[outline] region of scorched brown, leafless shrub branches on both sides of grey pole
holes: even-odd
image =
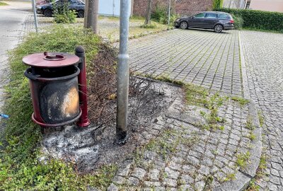
[[[101,44],[91,66],[88,66],[88,117],[98,125],[113,124],[116,119],[117,50]],[[156,92],[149,78],[129,76],[129,128],[135,129],[140,117],[148,120],[161,110],[162,92]]]

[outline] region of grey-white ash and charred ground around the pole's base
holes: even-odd
[[[127,156],[146,142],[151,127],[161,122],[166,111],[176,98],[183,98],[180,87],[168,83],[135,78],[139,84],[129,97],[127,143],[118,145],[116,141],[115,112],[107,122],[92,123],[89,127],[76,125],[49,129],[42,140],[42,158],[59,158],[76,163],[80,172],[90,172],[110,163],[121,163]],[[107,110],[116,110],[115,100]],[[156,134],[158,136],[158,134]]]

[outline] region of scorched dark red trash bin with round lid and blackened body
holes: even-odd
[[[62,52],[30,54],[23,63],[30,66],[29,79],[33,100],[33,122],[41,127],[69,125],[81,116],[79,105],[79,57]]]

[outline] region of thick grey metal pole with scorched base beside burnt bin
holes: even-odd
[[[120,1],[120,51],[117,66],[117,119],[116,136],[118,144],[127,141],[127,112],[129,94],[129,0]]]

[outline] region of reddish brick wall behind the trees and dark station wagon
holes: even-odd
[[[168,7],[168,0],[152,0],[152,11],[156,6]],[[202,11],[212,10],[213,0],[171,0],[171,6],[175,13],[182,16],[191,16]],[[137,16],[145,16],[147,0],[134,0],[133,14]]]

